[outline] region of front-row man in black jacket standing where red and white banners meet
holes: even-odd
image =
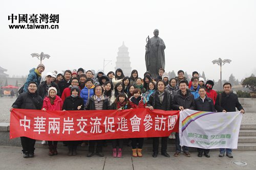
[[[178,90],[177,94],[174,95],[174,101],[173,101],[174,110],[184,110],[184,109],[195,110],[194,95],[187,89],[187,84],[188,83],[186,80],[181,80],[179,82],[180,90]],[[176,145],[176,152],[174,156],[177,157],[181,153],[179,133],[175,134],[175,145]],[[190,157],[190,154],[188,152],[188,147],[183,146],[183,151],[186,157]]]

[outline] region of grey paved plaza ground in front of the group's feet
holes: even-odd
[[[67,149],[59,149],[57,156],[48,156],[48,149],[37,148],[34,158],[23,158],[20,147],[0,146],[1,169],[256,169],[255,151],[234,151],[234,158],[218,157],[219,152],[210,152],[210,158],[191,157],[170,158],[159,155],[151,156],[152,152],[144,152],[142,158],[131,157],[131,152],[124,152],[123,158],[113,158],[111,152],[104,152],[104,157],[94,155],[86,157],[87,152],[79,151],[77,156],[67,156]],[[232,163],[244,161],[245,166]]]

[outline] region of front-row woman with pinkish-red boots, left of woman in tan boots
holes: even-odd
[[[115,102],[111,105],[110,110],[124,110],[129,109],[129,101],[126,97],[126,94],[120,93],[118,94]],[[118,145],[118,151],[117,151],[117,145]],[[123,148],[123,139],[113,139],[112,140],[112,148],[113,148],[113,157],[122,157],[122,148]]]

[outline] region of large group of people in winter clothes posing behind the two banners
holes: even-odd
[[[138,77],[138,71],[133,70],[130,77],[125,77],[122,69],[104,74],[92,70],[84,73],[82,68],[66,70],[64,74],[48,72],[45,81],[40,82],[41,74],[45,70],[43,64],[32,68],[24,85],[24,92],[13,103],[12,108],[37,109],[37,110],[123,110],[123,109],[160,109],[160,110],[200,110],[232,112],[236,108],[244,113],[238,101],[238,96],[231,91],[231,84],[224,83],[224,91],[217,95],[212,89],[214,82],[199,78],[197,71],[188,82],[184,71],[179,70],[178,76],[170,78],[163,68],[159,75],[152,78],[146,71],[143,78]],[[170,134],[169,138],[175,139],[178,157],[183,151],[190,157],[188,147],[180,146],[179,133]],[[20,137],[23,147],[23,157],[34,157],[35,139]],[[132,138],[132,156],[142,157],[143,138]],[[161,155],[170,157],[167,153],[168,136],[161,137]],[[82,141],[66,141],[68,155],[77,155],[77,146]],[[49,155],[57,155],[57,141],[48,141]],[[95,152],[95,145],[96,152]],[[102,140],[89,140],[88,157],[94,153],[102,157]],[[113,157],[122,157],[123,139],[112,140]],[[159,137],[153,138],[153,157],[159,153]],[[220,149],[220,157],[232,158],[231,149]],[[198,148],[198,156],[210,157],[209,150]]]

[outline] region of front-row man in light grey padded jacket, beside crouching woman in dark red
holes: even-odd
[[[109,100],[103,95],[103,87],[100,85],[95,86],[93,89],[94,95],[88,99],[86,103],[86,110],[109,110]],[[102,140],[89,140],[89,153],[87,157],[92,157],[94,155],[95,144],[97,143],[96,155],[103,157],[102,153]]]

